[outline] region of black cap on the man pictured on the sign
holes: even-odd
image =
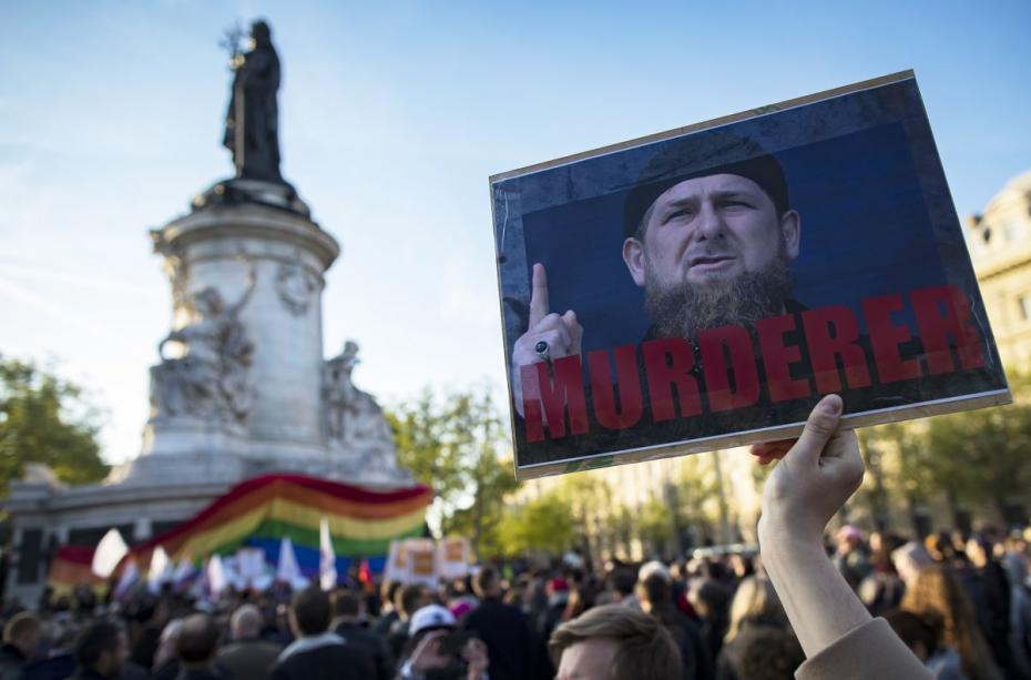
[[[714,130],[661,142],[662,149],[652,156],[637,177],[637,184],[626,195],[623,209],[623,235],[637,233],[641,219],[666,190],[695,177],[734,174],[758,184],[773,201],[777,214],[788,210],[787,180],[784,169],[755,140]]]

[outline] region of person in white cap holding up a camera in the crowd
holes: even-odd
[[[427,605],[411,617],[400,680],[488,680],[490,657],[481,640],[459,632],[447,608]]]

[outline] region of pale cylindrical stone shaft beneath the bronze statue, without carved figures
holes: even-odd
[[[253,346],[247,409],[238,419],[159,409],[129,480],[164,475],[151,458],[166,455],[241,459],[245,467],[324,458],[321,292],[339,254],[333,236],[304,214],[254,202],[205,205],[152,235],[172,280],[173,332],[196,323],[192,301],[205,290],[226,306],[245,298],[238,319]],[[232,466],[216,471],[234,475]]]

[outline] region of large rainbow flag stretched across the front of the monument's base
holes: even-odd
[[[390,541],[422,536],[432,489],[417,485],[376,491],[303,475],[265,475],[243,481],[170,531],[132,549],[139,564],[150,564],[161,546],[173,562],[192,560],[198,568],[212,555],[232,555],[243,546],[262,548],[275,565],[284,536],[294,544],[305,576],[318,574],[318,527],[325,517],[337,572],[347,574],[356,558],[377,566]]]

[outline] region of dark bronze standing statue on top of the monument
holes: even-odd
[[[283,183],[279,174],[279,57],[264,21],[251,26],[251,51],[233,51],[233,92],[223,144],[233,152],[236,176]]]

